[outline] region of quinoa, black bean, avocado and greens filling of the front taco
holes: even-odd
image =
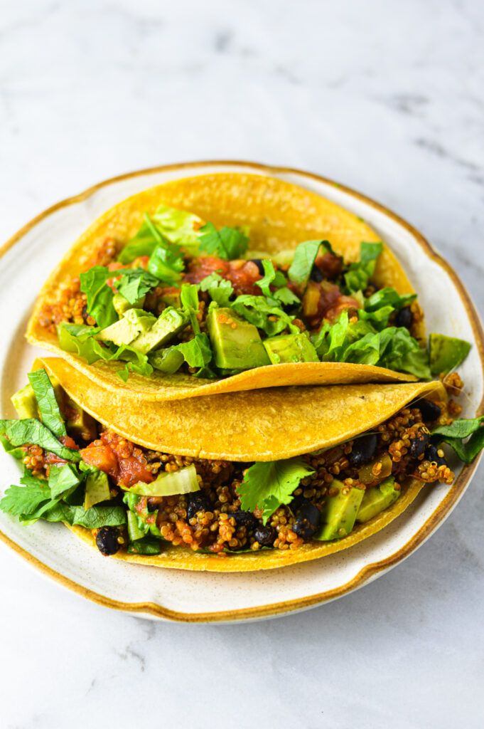
[[[455,418],[453,400],[421,398],[370,432],[278,461],[197,459],[140,447],[106,428],[44,369],[12,398],[19,420],[0,440],[22,461],[22,486],[0,508],[24,523],[92,532],[104,555],[159,555],[167,545],[227,555],[341,542],[402,499],[409,484],[451,484],[449,451],[469,463],[484,418]],[[450,375],[445,386],[459,394]]]

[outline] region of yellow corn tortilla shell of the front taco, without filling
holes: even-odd
[[[107,394],[98,384],[65,360],[47,357],[33,364],[45,367],[70,397],[98,421],[148,448],[209,459],[270,461],[317,451],[371,430],[416,397],[432,394],[445,399],[439,382],[360,386],[289,387],[254,394],[237,392],[183,402],[140,401],[133,406],[123,393]],[[276,569],[316,559],[376,534],[413,502],[422,487],[409,480],[402,496],[370,521],[357,524],[351,534],[334,542],[306,543],[297,550],[210,555],[167,544],[156,556],[116,554],[124,561],[151,566],[250,572]],[[95,547],[92,532],[69,527]]]

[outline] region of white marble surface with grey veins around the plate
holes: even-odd
[[[0,241],[109,176],[252,159],[393,208],[484,311],[480,0],[0,7]],[[483,480],[397,569],[269,622],[149,623],[0,545],[2,729],[480,728]]]

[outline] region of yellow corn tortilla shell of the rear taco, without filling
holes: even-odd
[[[321,238],[328,239],[336,252],[352,261],[359,256],[361,241],[379,241],[379,236],[354,214],[314,192],[273,177],[223,173],[168,182],[114,206],[74,243],[41,290],[28,323],[27,338],[31,343],[63,356],[106,389],[123,390],[136,401],[182,399],[287,385],[415,380],[412,375],[363,364],[301,362],[259,367],[219,381],[182,373],[154,373],[151,378],[132,374],[125,384],[116,375],[119,363],[87,364],[79,356],[60,349],[57,336],[39,324],[41,309],[57,300],[63,287],[90,267],[90,260],[106,238],[115,238],[124,245],[138,231],[143,213],[154,214],[162,203],[194,212],[216,226],[248,225],[251,248],[269,254]],[[400,294],[413,292],[400,263],[386,246],[378,258],[373,279],[378,286],[393,286]]]

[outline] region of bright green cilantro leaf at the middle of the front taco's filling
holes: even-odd
[[[256,507],[263,510],[262,521],[266,524],[281,504],[290,504],[301,479],[312,473],[301,456],[255,463],[247,469],[237,489],[240,506],[244,511],[253,512]]]

